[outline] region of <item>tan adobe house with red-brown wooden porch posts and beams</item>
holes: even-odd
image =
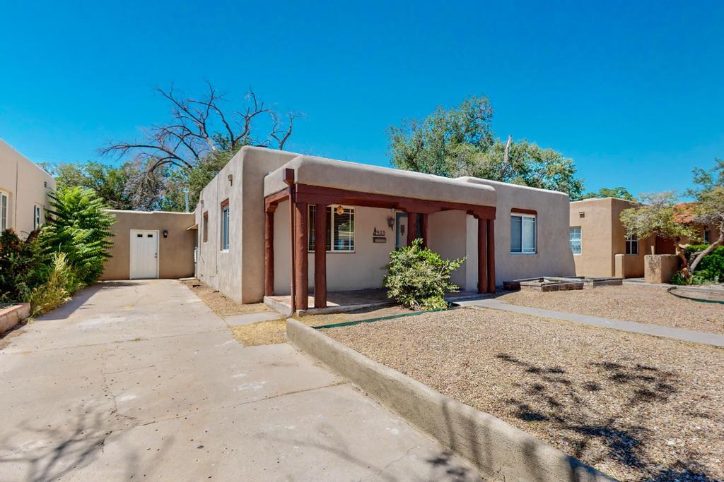
[[[503,280],[573,275],[568,204],[555,191],[243,147],[201,191],[196,275],[243,303],[321,309],[333,293],[379,289],[390,251],[419,237],[466,257],[452,277],[463,290],[494,293]]]

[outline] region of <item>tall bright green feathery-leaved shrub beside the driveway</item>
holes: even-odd
[[[113,246],[109,238],[114,216],[91,189],[59,189],[49,197],[51,209],[41,235],[46,253],[64,253],[72,272],[86,285],[97,281]]]

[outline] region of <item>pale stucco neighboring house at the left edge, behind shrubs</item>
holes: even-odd
[[[0,139],[0,231],[12,228],[21,238],[45,222],[48,192],[55,180]]]

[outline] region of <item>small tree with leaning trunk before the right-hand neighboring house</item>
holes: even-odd
[[[673,191],[642,194],[641,204],[623,210],[620,220],[628,236],[639,238],[659,236],[672,239],[676,254],[681,259],[681,272],[688,280],[691,277],[691,268],[689,260],[679,248],[679,243],[683,238],[698,240],[698,236],[696,230],[686,223],[685,212],[677,201]]]

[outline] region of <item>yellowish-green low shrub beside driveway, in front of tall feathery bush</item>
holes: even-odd
[[[54,253],[49,268],[48,280],[30,293],[30,311],[33,316],[56,309],[83,288],[83,283],[75,277],[68,265],[65,253]]]

